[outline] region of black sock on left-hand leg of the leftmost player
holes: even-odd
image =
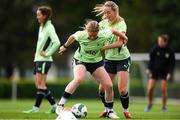
[[[41,105],[42,99],[45,96],[45,90],[43,89],[37,89],[37,97],[36,97],[36,102],[35,102],[35,107],[38,107]]]

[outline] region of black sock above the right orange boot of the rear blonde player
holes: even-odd
[[[129,95],[128,92],[125,95],[120,95],[120,100],[124,110],[128,110],[129,107]]]

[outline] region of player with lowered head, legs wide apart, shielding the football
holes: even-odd
[[[66,43],[60,47],[59,53],[62,54],[75,40],[80,47],[74,54],[74,79],[66,86],[61,97],[56,113],[60,114],[67,99],[75,92],[76,88],[84,80],[86,72],[90,72],[95,81],[101,83],[105,89],[105,101],[109,118],[119,118],[112,109],[113,105],[113,85],[109,75],[103,67],[103,57],[101,50],[116,47],[115,45],[104,46],[105,42],[115,34],[123,39],[127,37],[115,29],[99,31],[97,21],[88,21],[83,31],[77,31],[71,35]],[[119,41],[119,44],[123,41]]]

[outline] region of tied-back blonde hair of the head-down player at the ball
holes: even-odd
[[[99,23],[95,20],[86,20],[86,24],[84,25],[83,29],[90,32],[98,32]]]

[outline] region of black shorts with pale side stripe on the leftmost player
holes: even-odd
[[[36,73],[47,74],[49,68],[51,67],[51,63],[49,61],[36,61],[34,62],[34,75]]]

